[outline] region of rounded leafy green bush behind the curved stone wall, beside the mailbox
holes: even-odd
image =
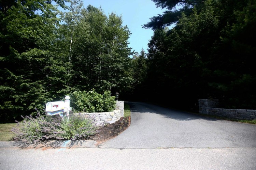
[[[104,112],[115,109],[115,96],[110,95],[110,91],[104,91],[103,95],[94,89],[86,91],[76,91],[71,95],[71,106],[77,112]]]

